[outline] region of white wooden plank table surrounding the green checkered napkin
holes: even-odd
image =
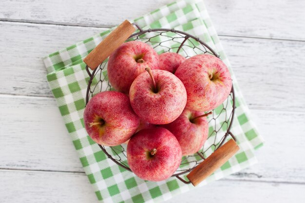
[[[96,203],[41,57],[173,0],[0,1],[0,203]],[[305,202],[305,1],[207,0],[266,145],[168,203]]]

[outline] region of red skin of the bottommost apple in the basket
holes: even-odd
[[[156,149],[156,153],[150,152]],[[175,136],[164,128],[142,129],[127,145],[127,161],[139,178],[163,181],[172,176],[182,160],[181,147]]]

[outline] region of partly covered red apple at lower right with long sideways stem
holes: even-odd
[[[203,114],[205,113],[201,111],[184,109],[172,123],[160,126],[170,130],[177,138],[182,149],[182,156],[196,153],[206,142],[209,134],[207,117],[196,118],[191,122],[193,118]]]

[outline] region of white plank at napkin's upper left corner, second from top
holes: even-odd
[[[10,22],[0,29],[0,93],[34,96],[52,96],[42,57],[105,30]]]

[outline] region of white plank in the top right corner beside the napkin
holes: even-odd
[[[220,35],[305,40],[305,1],[207,0]]]

